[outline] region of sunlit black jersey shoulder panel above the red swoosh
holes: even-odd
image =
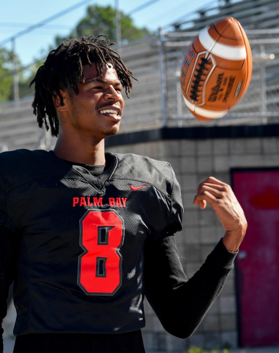
[[[132,153],[116,153],[118,163],[113,178],[151,184],[165,196],[171,197],[174,171],[170,163]]]

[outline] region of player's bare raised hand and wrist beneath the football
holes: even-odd
[[[227,249],[228,247],[232,249],[228,249],[229,251],[236,251],[245,235],[247,221],[230,185],[214,177],[207,178],[199,185],[198,194],[193,203],[203,210],[207,202],[226,231],[223,243]]]

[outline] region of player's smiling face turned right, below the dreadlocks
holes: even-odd
[[[79,94],[72,90],[64,92],[65,106],[57,107],[60,127],[63,133],[70,128],[71,131],[101,140],[119,130],[124,108],[122,86],[110,64],[106,65],[101,76],[97,75],[95,65],[86,65],[83,70],[85,82],[78,83]]]

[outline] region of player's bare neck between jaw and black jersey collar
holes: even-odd
[[[105,164],[104,139],[78,136],[77,134],[63,134],[59,131],[55,148],[55,156],[71,162],[102,165]]]

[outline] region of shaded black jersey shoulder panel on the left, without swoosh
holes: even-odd
[[[7,189],[56,174],[61,174],[61,163],[48,151],[18,149],[0,153],[0,175]]]

